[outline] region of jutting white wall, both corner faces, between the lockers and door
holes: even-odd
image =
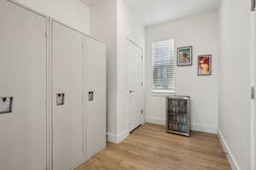
[[[128,135],[125,111],[126,38],[144,48],[144,27],[123,0],[106,0],[91,8],[91,34],[108,46],[108,141],[120,142]]]

